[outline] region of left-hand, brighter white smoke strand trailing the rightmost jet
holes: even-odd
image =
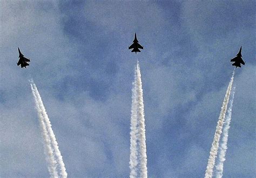
[[[225,98],[224,98],[224,101],[223,101],[223,105],[221,107],[218,124],[216,126],[216,131],[215,131],[214,139],[213,139],[213,142],[212,142],[212,148],[211,148],[211,151],[210,151],[210,156],[209,156],[208,163],[207,163],[207,168],[206,168],[206,171],[205,171],[205,178],[212,177],[213,168],[214,168],[214,164],[215,164],[215,159],[216,159],[216,156],[217,156],[217,153],[218,153],[218,148],[219,148],[220,135],[221,135],[221,132],[222,132],[224,118],[225,118],[226,111],[227,111],[228,100],[230,98],[230,93],[231,93],[231,89],[232,89],[233,79],[234,79],[234,71],[233,71],[233,74],[232,74],[232,77],[231,77],[231,80],[230,80],[230,84],[228,84],[227,91],[226,91],[226,94],[225,94]]]

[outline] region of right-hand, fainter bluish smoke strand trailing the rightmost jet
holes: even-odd
[[[221,139],[220,148],[219,148],[218,164],[215,166],[217,170],[216,177],[218,178],[221,178],[223,176],[223,166],[224,166],[224,161],[226,160],[225,156],[227,152],[228,129],[230,129],[234,93],[235,93],[235,87],[233,88],[233,92],[230,100],[230,106],[228,107],[227,117],[224,123],[223,138]]]

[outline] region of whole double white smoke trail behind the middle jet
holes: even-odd
[[[147,155],[142,78],[139,62],[134,70],[130,132],[130,177],[147,177]]]

